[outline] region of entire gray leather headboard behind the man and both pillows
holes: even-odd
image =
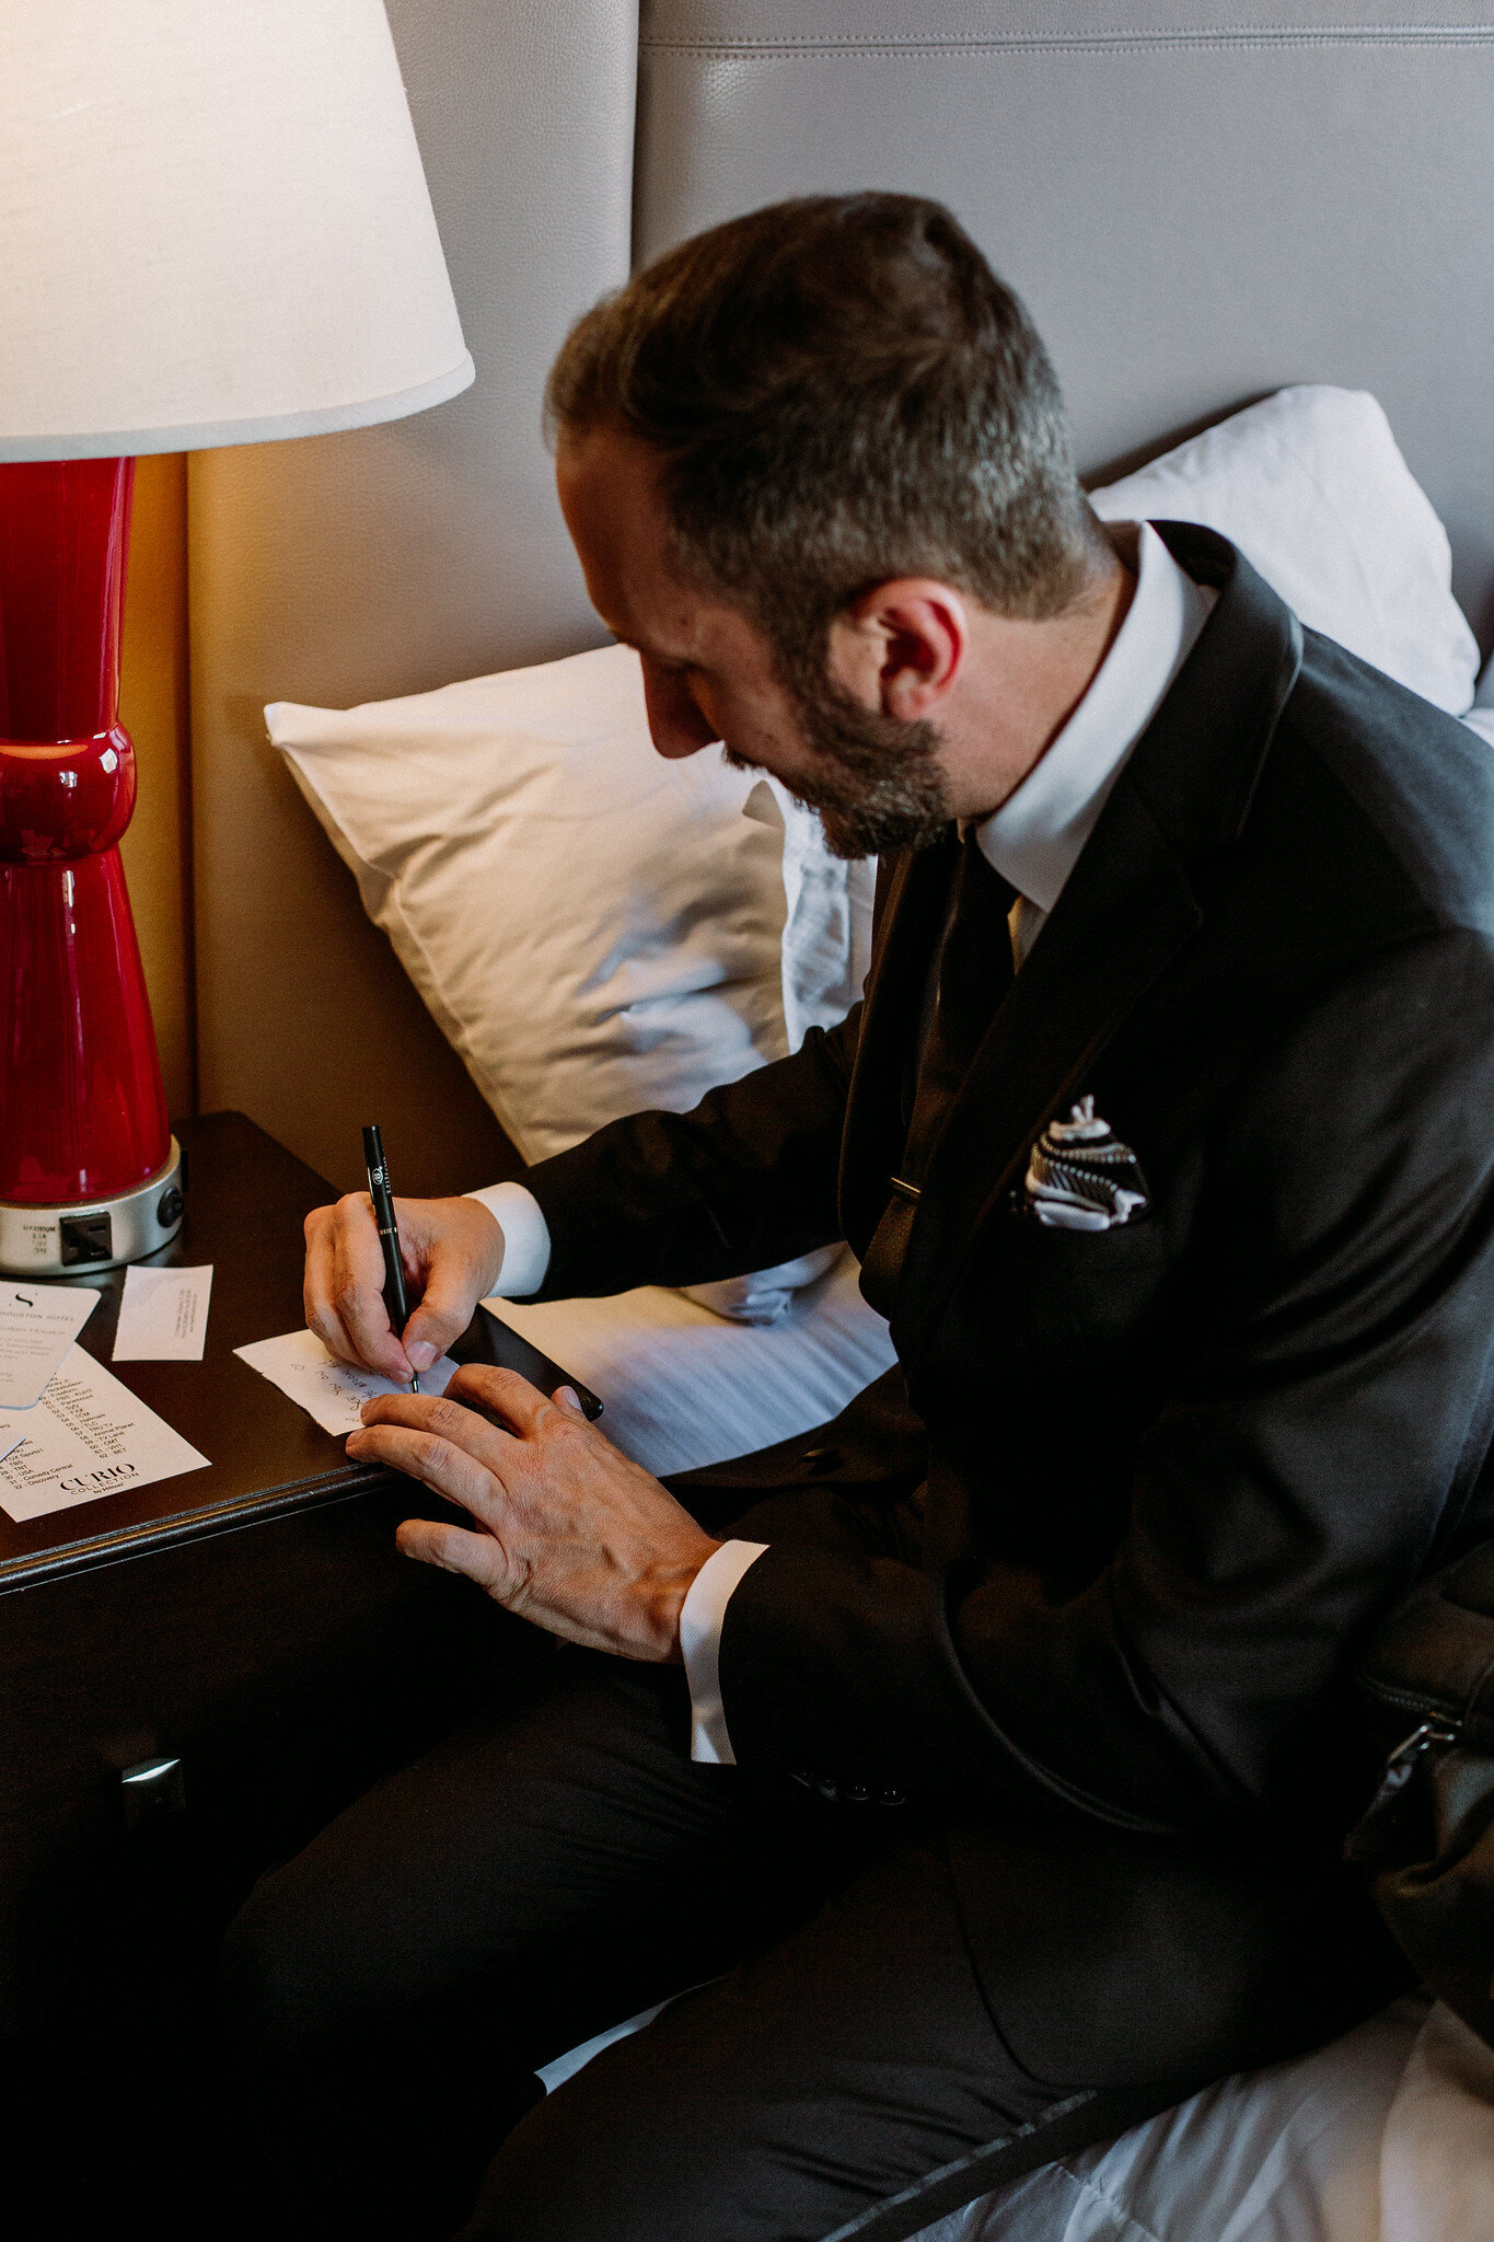
[[[1494,7],[1472,0],[394,0],[477,386],[193,469],[204,1103],[338,1179],[497,1157],[262,742],[591,643],[538,397],[634,256],[786,193],[950,202],[1028,298],[1098,471],[1288,381],[1373,390],[1494,634]],[[634,146],[636,40],[636,146]]]

